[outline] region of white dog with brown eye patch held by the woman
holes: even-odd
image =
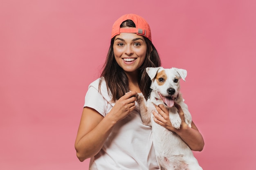
[[[141,93],[137,101],[143,124],[152,127],[153,144],[159,168],[161,170],[202,170],[189,146],[177,134],[155,123],[152,113],[157,112],[153,104],[164,104],[169,110],[171,124],[178,129],[181,119],[177,108],[173,106],[176,102],[184,112],[186,124],[191,127],[192,118],[180,94],[180,79],[185,81],[187,71],[178,68],[148,67],[146,72],[152,80],[150,86],[152,91],[147,101]]]

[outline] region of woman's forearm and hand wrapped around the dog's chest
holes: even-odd
[[[194,151],[202,151],[204,148],[204,139],[199,132],[198,128],[195,126],[194,122],[192,121],[191,128],[185,123],[184,112],[180,105],[175,104],[175,107],[179,110],[179,115],[182,120],[182,124],[180,129],[173,128],[171,121],[169,119],[169,112],[168,110],[160,104],[159,106],[155,106],[158,113],[153,112],[154,120],[157,124],[164,126],[168,130],[171,130],[177,135],[181,137],[181,139]]]

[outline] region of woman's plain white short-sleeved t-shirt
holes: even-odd
[[[103,117],[115,105],[108,95],[106,82],[98,91],[99,79],[89,85],[84,107],[97,110]],[[137,102],[136,108],[119,121],[103,148],[90,160],[90,170],[159,170],[153,148],[152,131],[142,124]]]

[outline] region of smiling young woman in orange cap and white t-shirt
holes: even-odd
[[[101,77],[92,82],[77,133],[75,148],[80,161],[91,158],[90,170],[158,170],[149,126],[141,122],[137,93],[145,98],[151,80],[146,67],[161,65],[152,44],[150,27],[139,15],[121,16],[112,27],[110,49]],[[155,121],[176,132],[192,150],[204,147],[202,135],[192,122],[179,130],[171,126],[168,110],[156,106]],[[171,143],[170,143],[171,145]]]

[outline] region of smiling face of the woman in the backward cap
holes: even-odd
[[[120,33],[115,37],[113,50],[117,64],[126,73],[137,73],[146,58],[147,45],[141,35]]]

